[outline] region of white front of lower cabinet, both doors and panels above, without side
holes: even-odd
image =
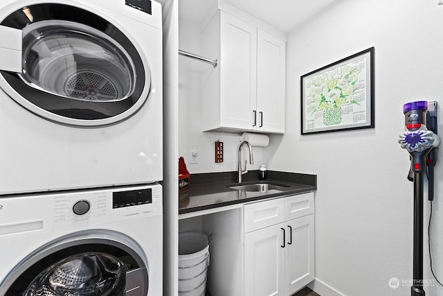
[[[244,225],[245,296],[289,296],[314,280],[314,193],[246,204]]]

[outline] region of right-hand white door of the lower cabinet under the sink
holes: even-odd
[[[314,280],[314,214],[284,223],[286,239],[286,295],[292,295]],[[287,235],[288,236],[288,235]]]

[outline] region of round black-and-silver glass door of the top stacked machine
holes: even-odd
[[[38,116],[109,125],[132,116],[148,97],[149,65],[134,42],[92,12],[38,4],[12,12],[0,30],[11,40],[3,47],[12,49],[0,60],[0,87]]]

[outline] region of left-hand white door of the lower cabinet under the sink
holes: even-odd
[[[245,234],[245,296],[284,296],[283,227],[282,223]]]

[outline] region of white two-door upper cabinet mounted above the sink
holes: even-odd
[[[223,10],[204,28],[204,130],[284,133],[285,42]]]

